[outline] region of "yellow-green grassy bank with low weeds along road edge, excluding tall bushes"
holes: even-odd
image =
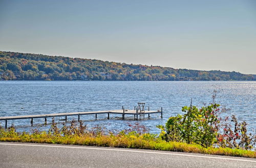
[[[137,133],[136,131],[121,131],[103,133],[101,130],[88,131],[83,126],[64,126],[61,130],[52,127],[49,131],[16,132],[14,127],[7,130],[0,129],[0,141],[24,143],[49,143],[87,145],[100,147],[151,149],[162,151],[190,152],[213,155],[240,156],[256,158],[256,153],[249,150],[230,148],[204,148],[200,145],[180,142],[166,142],[150,133]]]

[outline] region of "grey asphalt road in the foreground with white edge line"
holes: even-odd
[[[154,150],[0,142],[0,167],[256,167],[256,159]]]

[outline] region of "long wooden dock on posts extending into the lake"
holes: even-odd
[[[28,115],[28,116],[9,116],[9,117],[0,117],[0,121],[5,121],[5,128],[7,128],[8,120],[20,120],[20,119],[31,119],[31,126],[33,126],[33,119],[36,118],[45,118],[45,124],[47,124],[47,118],[53,117],[63,117],[65,116],[65,121],[67,122],[67,116],[78,116],[78,121],[80,121],[80,116],[82,115],[95,115],[95,119],[97,119],[98,114],[108,114],[108,119],[110,119],[110,114],[119,114],[122,115],[122,119],[124,120],[125,115],[134,115],[134,119],[144,119],[145,115],[148,115],[150,118],[151,114],[161,114],[161,118],[163,118],[163,108],[161,110],[152,111],[148,107],[148,110],[141,111],[136,106],[133,109],[125,109],[122,106],[122,109],[117,110],[103,110],[103,111],[84,111],[84,112],[72,112],[72,113],[55,113],[55,114],[47,114],[47,115]]]

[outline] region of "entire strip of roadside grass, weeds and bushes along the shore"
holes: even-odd
[[[256,158],[256,135],[248,133],[246,122],[238,122],[235,116],[222,119],[225,108],[211,103],[198,108],[182,107],[183,115],[170,117],[167,123],[159,125],[160,134],[152,134],[136,123],[122,131],[106,130],[96,125],[87,128],[82,121],[63,123],[61,128],[52,121],[49,131],[34,129],[32,132],[17,132],[12,125],[0,128],[0,141],[88,145],[153,149],[163,151],[193,152],[214,155]]]

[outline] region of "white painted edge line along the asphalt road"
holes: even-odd
[[[110,149],[110,148],[90,148],[90,147],[71,147],[71,146],[33,145],[33,144],[8,144],[8,143],[3,143],[3,144],[0,143],[0,145],[121,151],[121,152],[150,153],[150,154],[161,154],[161,155],[176,155],[176,156],[188,156],[188,157],[201,157],[201,158],[209,158],[209,159],[224,159],[224,160],[256,162],[256,160],[248,160],[248,159],[235,159],[235,158],[225,158],[225,157],[212,157],[212,156],[188,155],[188,154],[179,154],[179,153],[149,152],[149,151]]]

